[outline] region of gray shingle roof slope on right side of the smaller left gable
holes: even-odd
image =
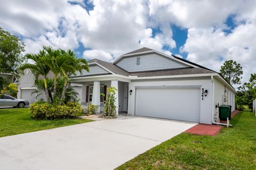
[[[126,72],[125,70],[121,69],[120,67],[118,67],[114,64],[111,64],[111,63],[108,63],[108,62],[105,62],[102,60],[98,60],[97,58],[94,58],[93,60],[88,61],[88,63],[93,63],[93,62],[99,63],[100,65],[102,65],[103,67],[105,67],[106,69],[108,69],[109,71],[111,71],[115,74],[125,75],[125,76],[129,75],[128,72]]]

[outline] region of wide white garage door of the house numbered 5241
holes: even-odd
[[[200,121],[199,88],[138,88],[135,115]]]

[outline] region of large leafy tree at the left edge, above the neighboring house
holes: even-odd
[[[24,47],[21,39],[0,27],[0,72],[11,73],[25,60]]]

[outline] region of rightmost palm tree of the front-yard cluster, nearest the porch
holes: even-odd
[[[76,75],[76,72],[79,72],[80,74],[83,73],[83,70],[89,72],[89,65],[87,64],[87,61],[84,58],[77,58],[75,53],[68,49],[67,51],[61,50],[60,53],[62,55],[63,64],[60,66],[60,70],[62,71],[62,75],[64,78],[63,83],[63,89],[61,94],[61,100],[60,105],[62,101],[65,100],[65,94],[68,84],[68,78],[71,74]]]

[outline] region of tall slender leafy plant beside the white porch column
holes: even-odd
[[[107,95],[107,99],[105,101],[103,117],[111,117],[111,118],[116,117],[116,106],[115,106],[116,90],[117,89],[115,87],[107,88],[107,91],[108,91],[109,94]]]

